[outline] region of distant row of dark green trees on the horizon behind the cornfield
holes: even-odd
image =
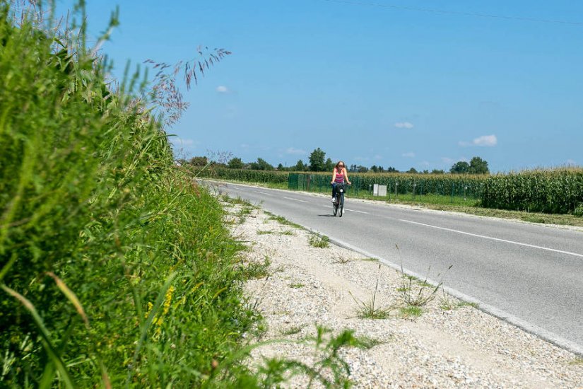
[[[294,172],[331,172],[334,169],[336,163],[330,158],[326,158],[326,152],[320,149],[314,149],[310,156],[308,157],[307,163],[304,163],[301,159],[293,166],[283,166],[279,163],[278,166],[273,166],[269,162],[265,161],[263,158],[257,158],[257,161],[253,162],[243,162],[241,158],[233,157],[225,162],[213,162],[209,161],[206,156],[195,156],[189,160],[178,160],[177,162],[184,164],[187,163],[192,166],[208,166],[213,165],[215,167],[229,168],[229,169],[249,169],[249,170],[278,170],[278,171],[294,171]],[[370,168],[362,165],[352,164],[347,166],[348,171],[351,173],[413,173],[413,174],[445,174],[446,172],[442,169],[432,169],[432,170],[417,170],[416,168],[411,168],[400,172],[389,166],[384,168],[383,166],[372,165]],[[489,174],[490,170],[488,168],[488,162],[482,158],[475,156],[471,158],[469,162],[458,161],[452,165],[447,173],[452,174]]]

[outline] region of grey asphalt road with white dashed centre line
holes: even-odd
[[[452,294],[583,355],[582,231],[348,197],[338,218],[329,197],[230,183],[218,188],[363,255],[402,264],[409,274],[442,279]]]

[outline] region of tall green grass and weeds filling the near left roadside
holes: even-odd
[[[0,4],[2,385],[219,385],[254,321],[223,209],[139,74],[113,93],[83,36]]]

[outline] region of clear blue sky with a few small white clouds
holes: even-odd
[[[102,49],[116,76],[199,45],[232,52],[182,90],[191,106],[168,132],[185,156],[583,165],[583,1],[88,0],[91,35],[118,4]]]

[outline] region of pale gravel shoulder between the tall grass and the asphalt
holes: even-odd
[[[335,245],[313,247],[311,233],[260,209],[242,218],[234,216],[241,205],[226,207],[233,235],[251,246],[247,260],[271,262],[268,277],[246,284],[267,328],[260,340],[299,341],[313,336],[316,325],[355,330],[375,344],[342,349],[355,388],[583,388],[581,357],[441,290],[420,316],[407,314],[402,289],[408,279],[395,269]],[[432,290],[412,281],[408,293],[419,289]],[[389,318],[358,318],[373,294],[376,307],[391,307]],[[271,356],[316,358],[306,342],[276,343],[254,349],[249,364]],[[305,387],[306,379],[294,377],[288,387]]]

